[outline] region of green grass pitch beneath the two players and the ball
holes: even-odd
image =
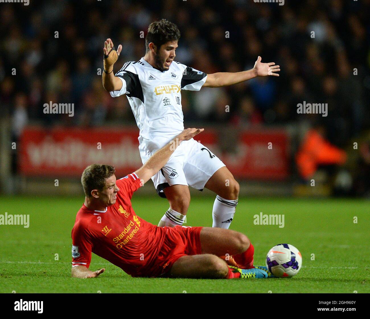
[[[193,197],[188,226],[211,226],[214,198]],[[134,196],[137,215],[155,225],[168,202]],[[98,278],[71,278],[71,229],[83,197],[0,197],[0,214],[30,214],[30,227],[0,225],[0,292],[11,293],[369,293],[370,205],[350,199],[240,197],[231,229],[255,246],[255,265],[265,265],[278,243],[296,246],[303,267],[291,279],[131,278],[92,254]],[[284,214],[285,227],[254,225],[253,215]],[[354,223],[357,216],[357,223]],[[58,260],[55,260],[58,254]],[[314,260],[313,255],[314,254]]]

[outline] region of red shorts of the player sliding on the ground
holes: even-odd
[[[203,227],[166,227],[165,240],[159,250],[155,273],[166,276],[172,265],[182,256],[202,253],[200,233]]]

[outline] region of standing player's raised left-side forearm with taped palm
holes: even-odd
[[[106,91],[119,91],[122,88],[122,81],[113,74],[114,63],[117,62],[120,56],[122,46],[118,46],[117,51],[113,46],[111,39],[104,42],[104,71],[102,73],[103,87]]]

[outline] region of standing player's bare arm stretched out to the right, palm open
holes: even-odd
[[[240,82],[244,82],[258,76],[279,76],[280,66],[275,65],[275,62],[262,63],[262,58],[259,56],[253,69],[243,72],[218,72],[207,75],[206,82],[203,87],[220,87],[228,86]]]

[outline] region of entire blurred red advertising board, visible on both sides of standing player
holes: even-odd
[[[138,129],[27,127],[20,139],[19,167],[25,176],[80,177],[91,163],[115,166],[117,176],[138,169]],[[289,140],[283,130],[244,130],[235,136],[235,152],[221,152],[218,134],[207,129],[195,137],[216,154],[236,178],[287,177]],[[269,144],[271,143],[271,144]]]

